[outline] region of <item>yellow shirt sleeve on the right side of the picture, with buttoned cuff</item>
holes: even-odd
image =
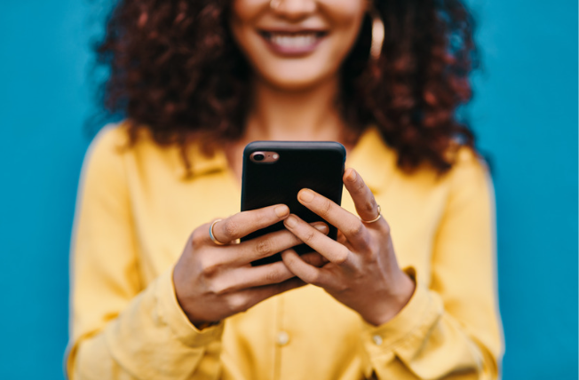
[[[464,152],[463,152],[464,153]],[[405,268],[416,290],[382,326],[365,324],[366,376],[497,379],[504,352],[496,296],[494,193],[486,167],[462,154],[432,251],[427,286]]]

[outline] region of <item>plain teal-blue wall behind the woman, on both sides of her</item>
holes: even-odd
[[[0,379],[62,379],[98,2],[0,12]],[[577,378],[577,3],[471,0],[469,107],[494,165],[504,379]]]

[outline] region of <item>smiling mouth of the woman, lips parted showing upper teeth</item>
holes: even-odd
[[[313,51],[328,33],[323,31],[261,31],[259,35],[266,40],[274,51],[294,55]]]

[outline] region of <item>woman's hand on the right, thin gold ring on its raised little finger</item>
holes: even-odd
[[[412,297],[415,284],[398,266],[385,218],[373,223],[361,221],[379,215],[374,194],[353,169],[345,171],[344,184],[360,218],[312,190],[302,189],[297,195],[300,203],[337,227],[337,241],[295,215],[284,221],[289,231],[329,262],[321,267],[310,265],[293,249],[284,251],[282,258],[297,277],[325,289],[378,326],[401,311]]]

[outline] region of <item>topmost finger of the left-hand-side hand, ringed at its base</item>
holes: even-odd
[[[229,218],[219,220],[213,226],[213,236],[221,242],[229,242],[251,234],[288,218],[289,207],[274,204],[258,210],[242,211]]]

